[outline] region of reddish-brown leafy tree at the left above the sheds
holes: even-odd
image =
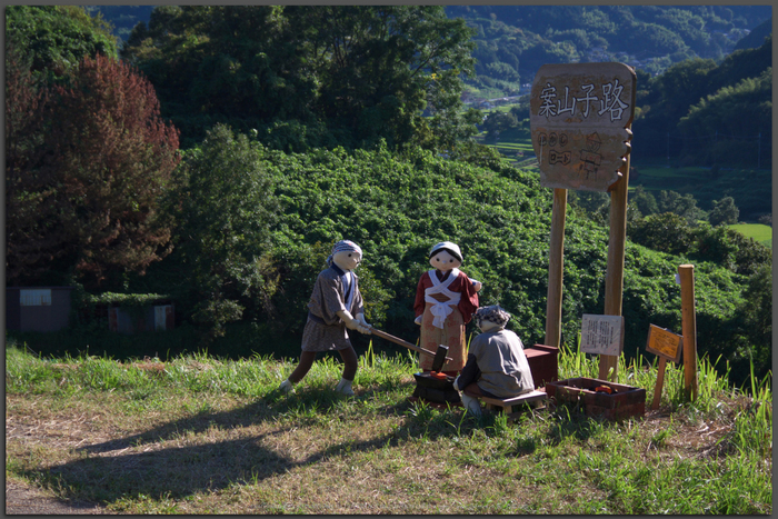
[[[143,272],[169,252],[169,221],[158,202],[180,160],[178,134],[159,118],[151,84],[127,64],[86,57],[68,80],[70,88],[50,89],[43,108],[40,160],[7,169],[14,183],[40,179],[48,211],[37,234],[10,222],[7,261],[14,273],[30,275],[57,258],[59,268],[96,286],[111,270]],[[9,203],[23,204],[27,196],[12,191]],[[30,238],[37,261],[17,253]]]

